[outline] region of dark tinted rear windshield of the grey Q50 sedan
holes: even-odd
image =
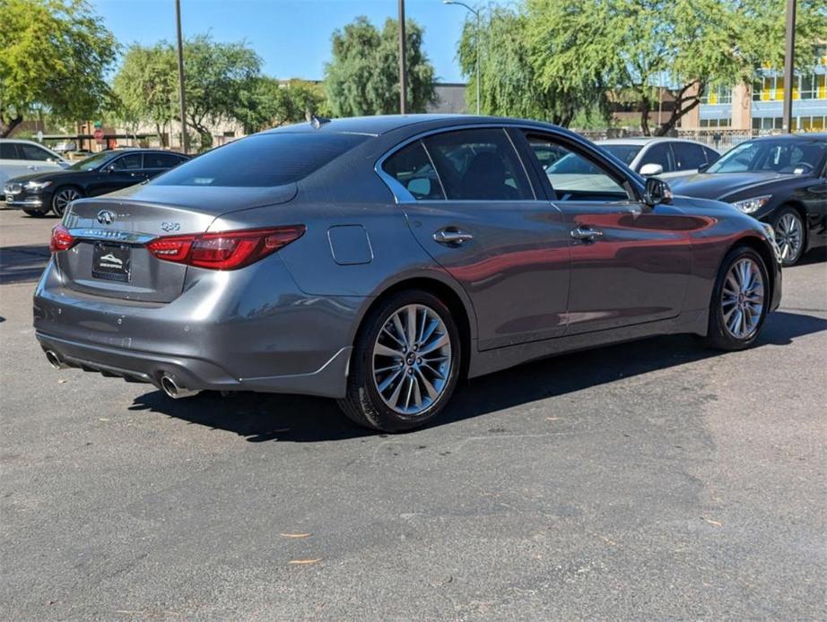
[[[152,181],[156,186],[290,184],[363,143],[361,134],[256,134],[207,151]]]

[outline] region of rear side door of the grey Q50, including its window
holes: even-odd
[[[471,298],[479,350],[565,332],[567,232],[504,128],[431,134],[381,168],[413,236]]]

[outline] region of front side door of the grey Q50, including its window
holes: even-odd
[[[649,208],[640,185],[597,150],[564,134],[525,133],[528,151],[557,145],[581,159],[579,176],[546,170],[546,191],[570,244],[567,334],[673,318],[692,272],[697,220],[671,205]],[[562,161],[562,160],[561,160]],[[535,167],[539,162],[533,161]]]

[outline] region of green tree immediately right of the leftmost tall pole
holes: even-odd
[[[208,124],[235,118],[239,101],[255,89],[261,58],[243,42],[217,43],[198,35],[184,44],[187,125],[201,138],[201,148],[213,145]]]

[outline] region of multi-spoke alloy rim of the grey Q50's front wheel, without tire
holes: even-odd
[[[738,340],[753,336],[764,305],[764,279],[758,263],[744,257],[733,263],[721,290],[721,313],[727,333]]]

